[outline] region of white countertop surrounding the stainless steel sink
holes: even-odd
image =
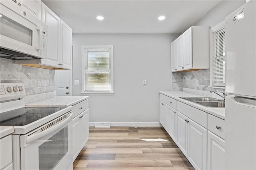
[[[225,108],[205,107],[200,104],[180,98],[180,97],[205,97],[205,96],[195,95],[195,94],[187,93],[187,92],[183,92],[183,91],[159,91],[159,93],[169,96],[169,97],[172,97],[172,98],[176,99],[177,101],[186,103],[187,105],[195,107],[196,109],[200,109],[201,111],[207,112],[211,115],[214,115],[216,117],[219,117],[220,119],[225,120]]]

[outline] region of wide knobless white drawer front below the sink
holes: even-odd
[[[187,116],[188,118],[192,119],[199,125],[203,126],[204,128],[208,127],[208,113],[180,101],[177,101],[176,110]]]

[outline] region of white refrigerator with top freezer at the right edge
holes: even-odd
[[[256,2],[225,18],[225,169],[256,169]]]

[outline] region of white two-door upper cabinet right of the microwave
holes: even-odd
[[[47,59],[41,64],[72,69],[72,29],[44,3],[41,20],[48,25]]]

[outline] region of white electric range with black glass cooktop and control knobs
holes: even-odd
[[[23,83],[0,83],[0,126],[13,126],[13,169],[72,169],[71,107],[25,107]]]

